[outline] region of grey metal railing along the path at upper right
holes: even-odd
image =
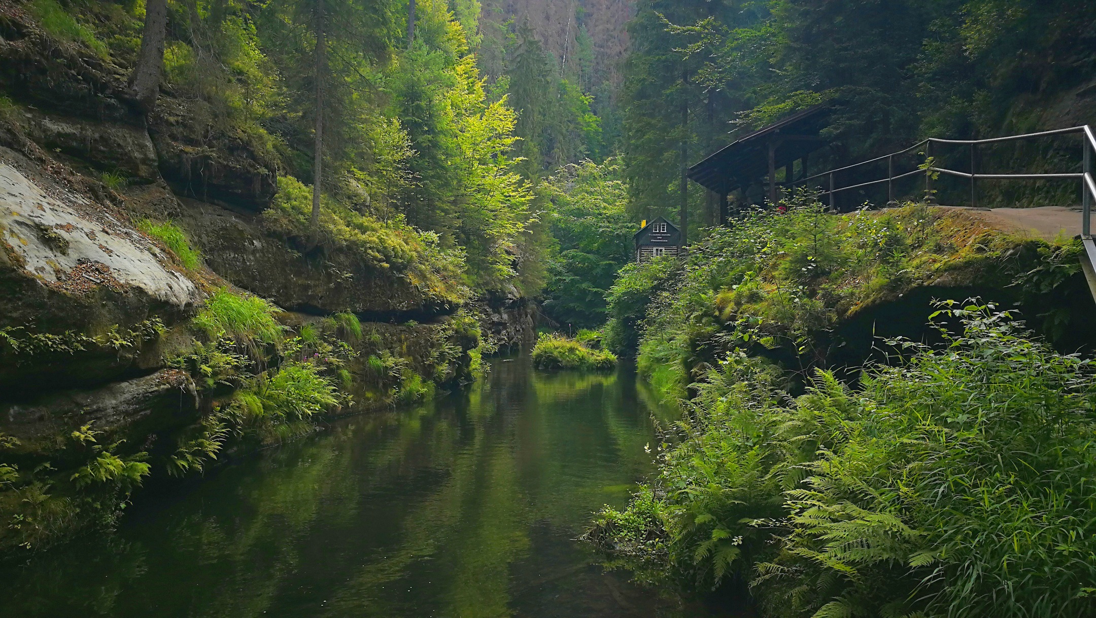
[[[1048,137],[1052,135],[1065,135],[1080,133],[1082,134],[1082,171],[1078,173],[1060,173],[1060,174],[980,174],[975,172],[975,164],[978,162],[978,147],[985,144],[1001,144],[1005,141],[1018,141],[1021,139],[1031,139],[1036,137]],[[960,172],[957,170],[948,170],[946,168],[937,168],[935,165],[922,165],[912,172],[904,172],[901,174],[894,174],[894,157],[905,154],[911,150],[915,150],[925,147],[925,160],[933,161],[933,145],[934,144],[949,144],[949,145],[967,145],[970,146],[970,172]],[[888,203],[894,202],[894,181],[904,179],[906,176],[912,176],[915,174],[925,174],[925,194],[933,194],[933,174],[949,174],[954,176],[970,179],[970,198],[971,205],[978,206],[978,185],[977,182],[980,179],[984,180],[1054,180],[1054,179],[1073,179],[1081,180],[1081,194],[1082,194],[1082,221],[1081,221],[1081,237],[1086,240],[1092,240],[1092,228],[1091,228],[1091,213],[1093,201],[1096,199],[1096,180],[1093,179],[1093,153],[1096,152],[1096,136],[1093,135],[1093,129],[1088,125],[1080,127],[1070,127],[1064,129],[1055,130],[1044,130],[1039,133],[1028,133],[1024,135],[1012,135],[1007,137],[993,137],[990,139],[938,139],[931,137],[923,141],[918,141],[913,146],[899,150],[897,152],[891,152],[890,154],[883,154],[882,157],[876,157],[875,159],[869,159],[867,161],[860,161],[859,163],[854,163],[852,165],[845,165],[844,168],[836,168],[821,174],[814,174],[804,179],[799,179],[789,183],[781,183],[787,186],[796,186],[810,181],[826,179],[829,180],[830,188],[829,191],[822,191],[821,195],[829,195],[830,206],[834,206],[835,196],[843,191],[850,191],[854,188],[861,188],[865,186],[887,183],[887,194]],[[855,168],[860,168],[864,165],[870,165],[871,163],[878,163],[880,161],[887,161],[887,178],[874,180],[869,182],[861,182],[853,184],[849,186],[835,186],[834,174],[838,172],[844,172]]]

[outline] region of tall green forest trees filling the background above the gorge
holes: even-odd
[[[140,0],[23,5],[119,71],[136,59]],[[304,234],[326,71],[320,184],[334,218],[321,236],[347,245],[346,229],[367,230],[380,249],[359,249],[378,263],[420,255],[472,290],[543,297],[574,325],[604,321],[640,219],[676,220],[684,203],[689,240],[713,224],[713,196],[682,183],[684,167],[796,110],[834,107],[819,170],[926,136],[1096,121],[1091,3],[419,0],[413,42],[408,2],[324,7],[318,64],[315,1],[171,0],[171,96],[156,114],[195,148],[246,145],[285,179],[272,228]],[[1061,171],[1080,162],[1075,141],[995,148],[984,169]],[[1006,204],[1076,198],[1062,185],[993,191]],[[376,232],[392,226],[425,236]]]

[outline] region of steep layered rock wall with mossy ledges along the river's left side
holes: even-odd
[[[109,525],[141,466],[164,476],[181,445],[220,436],[224,457],[313,428],[250,442],[217,428],[241,380],[210,377],[216,341],[191,320],[219,289],[296,311],[279,316],[290,335],[342,346],[345,393],[328,415],[473,379],[478,329],[458,306],[264,231],[276,165],[231,135],[190,131],[191,102],[167,88],[146,119],[125,77],[0,8],[0,551]],[[204,263],[185,266],[142,219],[173,221]],[[335,335],[335,312],[362,332]],[[260,370],[307,360],[287,345],[248,355]]]

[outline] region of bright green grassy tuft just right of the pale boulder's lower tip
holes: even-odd
[[[255,348],[259,344],[277,345],[285,328],[274,319],[281,310],[258,296],[242,296],[222,287],[206,299],[205,307],[192,323],[213,339],[221,333],[239,345]]]

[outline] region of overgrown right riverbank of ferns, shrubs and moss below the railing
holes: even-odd
[[[1089,614],[1080,242],[786,206],[623,272],[613,328],[688,414],[587,538],[642,581],[749,585],[764,616]]]

